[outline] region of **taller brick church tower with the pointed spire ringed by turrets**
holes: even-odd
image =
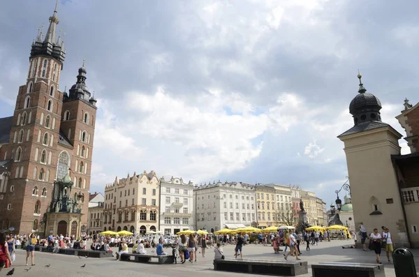
[[[1,157],[13,160],[10,170],[13,195],[9,196],[13,199],[5,203],[8,223],[16,231],[39,230],[56,174],[54,161],[63,100],[58,87],[66,56],[63,40],[56,38],[58,23],[56,5],[45,36],[38,31],[31,45],[27,82],[19,88],[9,144]]]

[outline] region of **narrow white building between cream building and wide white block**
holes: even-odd
[[[184,183],[182,178],[166,180],[162,177],[160,193],[160,231],[176,234],[182,230],[193,230],[195,217],[192,182]]]

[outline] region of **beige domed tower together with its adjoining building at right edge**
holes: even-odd
[[[358,74],[358,94],[349,105],[353,127],[338,136],[344,142],[351,198],[341,207],[340,219],[353,212],[348,224],[367,232],[381,226],[389,228],[397,246],[419,246],[419,103],[404,101],[396,118],[406,130],[411,154],[402,155],[403,137],[381,119],[381,102],[368,93]],[[350,200],[350,201],[349,201]],[[348,201],[348,202],[347,202]],[[353,206],[352,206],[353,205]]]

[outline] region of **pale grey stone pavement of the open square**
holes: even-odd
[[[301,259],[306,260],[310,264],[317,262],[360,262],[375,264],[375,257],[373,251],[362,251],[362,249],[342,249],[341,246],[348,245],[350,241],[330,241],[321,242],[318,246],[311,246],[311,250],[306,251],[305,245],[302,245]],[[284,248],[282,248],[284,249]],[[116,250],[116,249],[115,249]],[[224,254],[227,258],[233,258],[234,246],[225,246]],[[171,248],[167,248],[171,253]],[[152,249],[147,248],[147,252],[151,253]],[[205,257],[201,257],[198,253],[198,262],[193,264],[186,262],[185,264],[141,264],[135,262],[118,262],[115,258],[95,259],[85,257],[79,258],[77,256],[52,254],[52,253],[35,253],[34,267],[25,267],[24,250],[17,250],[16,261],[13,264],[15,267],[15,274],[13,276],[25,277],[46,277],[46,276],[101,276],[115,277],[118,274],[128,274],[128,276],[156,276],[156,277],[184,277],[184,276],[255,276],[253,274],[237,274],[225,271],[214,271],[212,260],[214,257],[214,248],[208,248]],[[416,265],[419,265],[419,250],[412,250],[413,255],[416,257]],[[250,245],[243,247],[244,259],[254,260],[284,260],[282,253],[274,254],[272,247],[262,245]],[[294,257],[289,256],[288,260],[293,260]],[[386,261],[385,253],[381,254],[381,260],[385,267],[386,277],[395,277],[395,271],[392,264]],[[30,264],[30,262],[29,262]],[[50,267],[45,265],[50,264]],[[86,267],[81,267],[86,264]],[[31,269],[29,269],[31,268]],[[29,269],[29,271],[25,271]],[[3,269],[0,276],[6,276],[7,271],[10,269]],[[419,268],[417,267],[419,271]],[[137,273],[137,274],[135,274]],[[311,269],[309,274],[302,277],[311,277]]]

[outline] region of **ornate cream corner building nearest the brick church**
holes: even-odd
[[[127,230],[135,234],[159,231],[160,181],[146,171],[105,186],[103,231]]]

